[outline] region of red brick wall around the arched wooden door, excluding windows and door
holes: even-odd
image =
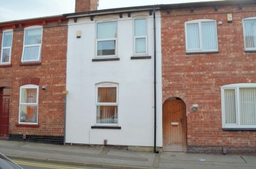
[[[227,23],[226,13],[233,13]],[[163,102],[180,97],[187,106],[188,151],[256,153],[256,131],[223,131],[220,87],[256,82],[256,53],[245,53],[242,18],[256,16],[256,5],[214,6],[161,11]],[[219,53],[186,55],[184,23],[214,19],[218,28]],[[223,21],[223,24],[218,24]],[[198,111],[191,111],[198,104]]]

